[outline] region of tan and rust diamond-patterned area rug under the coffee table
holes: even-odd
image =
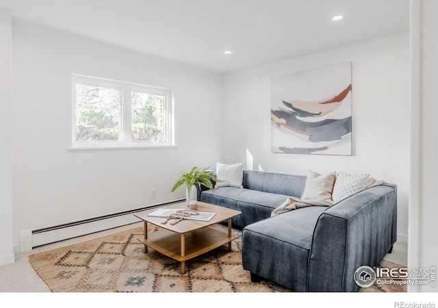
[[[144,253],[137,240],[143,234],[139,227],[30,255],[29,261],[52,292],[290,292],[270,281],[250,282],[242,268],[240,237],[233,241],[233,251],[224,245],[191,259],[181,274],[179,262],[151,248]],[[406,292],[387,285],[363,291]]]

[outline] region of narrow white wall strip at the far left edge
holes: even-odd
[[[0,266],[14,262],[12,250],[12,136],[10,68],[12,18],[0,8]]]

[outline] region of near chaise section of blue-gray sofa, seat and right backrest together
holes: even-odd
[[[379,185],[251,224],[242,233],[244,269],[295,291],[357,292],[355,270],[378,266],[396,242],[396,195],[395,185]]]

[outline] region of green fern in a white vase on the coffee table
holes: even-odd
[[[214,175],[211,175],[211,173],[213,173],[213,170],[207,171],[207,169],[208,167],[193,167],[190,172],[181,173],[181,176],[179,177],[179,179],[177,179],[170,192],[175,192],[175,190],[177,190],[177,188],[179,188],[181,185],[185,185],[187,192],[186,203],[187,205],[189,205],[190,201],[196,200],[196,198],[193,198],[192,196],[192,194],[196,193],[196,190],[193,190],[193,188],[197,186],[199,189],[201,189],[201,185],[203,185],[206,188],[212,190],[214,187],[211,181],[220,181],[218,178],[214,177]]]

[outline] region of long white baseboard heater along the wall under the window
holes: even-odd
[[[133,216],[134,213],[137,213],[139,211],[145,211],[146,209],[154,209],[155,207],[162,207],[164,205],[179,203],[184,200],[185,199],[170,201],[167,203],[142,207],[140,209],[131,209],[129,211],[121,211],[115,214],[88,218],[85,220],[68,222],[66,224],[58,224],[53,227],[33,230],[31,237],[31,247],[36,248],[38,246],[46,244],[52,244],[63,240],[69,240],[71,238],[77,238],[82,235],[88,235],[108,229],[113,229],[116,227],[122,227],[127,224],[134,224],[136,222],[140,222],[138,218]]]

